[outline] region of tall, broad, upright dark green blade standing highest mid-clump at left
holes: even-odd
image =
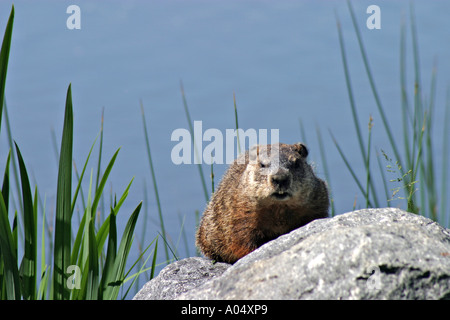
[[[58,167],[56,191],[53,298],[66,300],[69,292],[66,288],[66,269],[70,265],[71,217],[72,217],[72,146],[73,146],[73,110],[71,85],[67,90],[64,127]]]

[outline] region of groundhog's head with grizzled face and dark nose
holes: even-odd
[[[258,203],[308,203],[318,178],[307,163],[304,144],[257,145],[246,152],[241,177],[245,194]]]

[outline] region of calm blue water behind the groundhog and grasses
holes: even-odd
[[[0,30],[12,1],[0,2]],[[66,9],[81,9],[81,29],[69,30]],[[381,8],[381,29],[366,28],[366,8]],[[52,130],[60,140],[66,90],[72,84],[75,117],[74,158],[81,169],[100,130],[104,108],[102,168],[121,147],[109,189],[119,195],[135,177],[120,213],[122,227],[145,197],[149,222],[146,241],[159,230],[157,207],[147,161],[139,101],[150,133],[156,178],[166,228],[179,239],[180,221],[188,252],[180,240],[180,257],[194,254],[195,211],[203,211],[203,194],[195,165],[174,165],[170,137],[188,128],[180,94],[183,82],[192,120],[203,130],[234,128],[233,93],[242,128],[279,129],[280,140],[302,140],[304,125],[310,159],[324,177],[316,127],[322,133],[331,172],[330,187],[337,213],[363,207],[364,200],[329,131],[338,139],[355,172],[364,180],[342,67],[336,15],[344,33],[347,58],[360,123],[367,141],[374,118],[373,146],[394,157],[384,134],[345,1],[14,1],[11,58],[6,98],[14,139],[21,148],[33,184],[54,212],[57,160]],[[402,17],[407,21],[408,89],[413,96],[413,67],[409,3],[354,1],[377,89],[394,135],[401,142],[399,39]],[[450,3],[414,4],[420,47],[424,97],[430,96],[433,61],[438,62],[436,89],[437,137],[434,159],[440,177],[442,119],[446,87],[450,84]],[[98,145],[97,145],[98,146]],[[97,149],[95,149],[97,150]],[[97,151],[94,151],[97,152]],[[373,151],[375,152],[375,151]],[[0,168],[7,143],[5,124],[0,138]],[[96,167],[96,155],[90,168]],[[387,165],[382,162],[383,166]],[[378,172],[378,165],[373,160]],[[203,165],[208,178],[210,167]],[[215,165],[215,182],[226,165]],[[0,171],[1,172],[1,171]],[[378,177],[376,177],[378,179]],[[448,178],[447,178],[448,179]],[[144,195],[144,184],[147,195]],[[207,179],[210,192],[210,180]],[[392,187],[397,185],[393,184]],[[87,190],[85,190],[86,192]],[[378,194],[383,189],[380,185]],[[385,205],[385,202],[383,202]],[[392,205],[403,206],[397,201]],[[142,219],[142,218],[141,218]],[[139,230],[138,234],[141,233]],[[137,251],[136,251],[137,252]],[[136,254],[134,252],[134,254]],[[161,251],[162,252],[162,251]]]

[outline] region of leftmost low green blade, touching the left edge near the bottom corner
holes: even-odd
[[[3,260],[3,280],[6,286],[6,299],[19,300],[21,297],[19,269],[17,268],[17,244],[14,243],[13,233],[10,229],[8,212],[5,201],[0,192],[0,254]]]

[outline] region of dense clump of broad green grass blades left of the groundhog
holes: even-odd
[[[0,124],[2,123],[3,107],[6,105],[4,103],[5,84],[13,21],[14,7],[11,10],[0,52],[0,101],[3,102],[0,104]],[[7,117],[5,121],[9,127]],[[106,218],[100,219],[97,214],[104,187],[119,150],[111,157],[102,175],[100,175],[99,160],[95,183],[93,182],[94,172],[91,170],[87,202],[83,203],[81,208],[83,214],[79,225],[74,222],[73,213],[76,207],[79,208],[77,198],[82,191],[81,184],[95,142],[90,148],[81,175],[78,176],[77,173],[78,181],[76,181],[77,186],[73,193],[72,184],[75,182],[72,181],[73,134],[72,87],[69,85],[61,148],[58,155],[55,224],[51,226],[54,231],[50,233],[46,230],[48,221],[45,201],[42,204],[38,187],[31,187],[26,160],[22,157],[18,144],[12,145],[12,139],[10,139],[10,150],[6,157],[0,192],[0,299],[117,299],[119,291],[126,282],[129,281],[133,284],[139,274],[148,271],[145,263],[135,274],[130,275],[130,271],[136,263],[129,271],[126,271],[142,202],[131,213],[122,236],[119,237],[117,234],[116,217],[128,196],[133,180],[130,181],[119,199],[114,197],[114,200],[111,201],[110,212]],[[101,149],[100,146],[100,156]],[[21,195],[19,198],[21,205],[14,206],[19,210],[14,210],[9,201],[14,196],[10,171],[11,163],[15,161],[13,150],[16,151],[20,173],[20,186],[17,183],[17,188]],[[2,156],[4,156],[3,153]],[[15,168],[14,166],[13,169],[16,170]],[[40,207],[42,208],[41,216],[38,214]],[[40,235],[38,234],[39,221],[42,224]],[[46,237],[46,234],[50,236]],[[23,243],[23,247],[19,246],[19,238],[23,238],[20,242]],[[41,241],[40,249],[38,247],[39,239]],[[53,247],[52,252],[47,251],[48,243]],[[153,270],[157,239],[143,250],[138,260],[152,245],[154,245],[153,255],[149,254],[146,262],[153,256],[151,266]],[[47,253],[49,253],[49,258],[46,256]],[[23,255],[21,259],[19,259],[19,255]],[[39,260],[40,272],[38,272]],[[122,298],[126,297],[130,287],[131,285]]]

